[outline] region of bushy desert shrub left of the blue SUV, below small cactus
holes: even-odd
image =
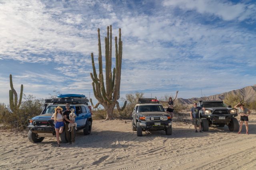
[[[14,131],[23,131],[28,125],[28,119],[36,115],[40,115],[42,109],[44,108],[44,100],[36,99],[32,95],[23,94],[23,102],[20,108],[14,112],[10,109],[5,109],[0,111],[0,123],[4,125],[5,128],[10,128]]]

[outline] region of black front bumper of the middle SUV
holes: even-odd
[[[147,129],[162,130],[170,126],[172,126],[172,121],[140,121],[140,127],[146,130]]]

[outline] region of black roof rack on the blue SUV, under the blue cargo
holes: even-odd
[[[86,104],[88,105],[89,100],[87,98],[52,98],[46,99],[45,103],[52,104]]]

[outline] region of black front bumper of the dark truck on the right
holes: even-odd
[[[236,116],[237,114],[200,115],[201,118],[206,118],[211,123],[229,123],[231,118]]]

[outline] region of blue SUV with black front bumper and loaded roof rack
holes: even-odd
[[[92,130],[91,107],[88,106],[89,100],[80,94],[59,95],[58,98],[46,99],[44,110],[38,116],[29,119],[28,139],[32,143],[42,142],[45,137],[56,137],[54,120],[51,119],[54,108],[62,107],[66,110],[65,104],[70,104],[70,109],[75,109],[77,130],[83,130],[84,135],[89,135]],[[62,142],[67,143],[66,133],[60,134]]]

